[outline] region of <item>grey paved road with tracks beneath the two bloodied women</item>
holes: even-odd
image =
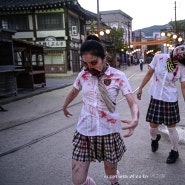
[[[133,90],[137,89],[147,67],[143,72],[138,70],[139,66],[132,66],[125,71]],[[132,75],[135,73],[137,75]],[[70,89],[71,86],[67,86],[4,104],[8,112],[0,113],[0,185],[71,185],[71,139],[81,108],[81,96],[70,107],[73,117],[65,118],[61,105]],[[167,165],[170,144],[165,128],[161,127],[159,150],[156,153],[150,150],[145,121],[149,95],[148,88],[145,89],[143,100],[136,100],[141,112],[139,126],[132,137],[125,139],[127,152],[119,163],[120,184],[184,185],[185,144],[181,142],[179,146],[177,163]],[[126,102],[121,97],[119,100],[120,116],[129,118]],[[180,102],[183,102],[182,96]],[[182,130],[185,119],[183,103],[180,103],[180,111]],[[7,127],[12,128],[6,130]],[[102,163],[92,163],[89,174],[97,185],[110,184]]]

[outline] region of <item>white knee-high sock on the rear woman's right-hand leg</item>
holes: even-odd
[[[178,150],[178,144],[179,144],[179,135],[177,132],[177,129],[175,127],[168,128],[169,132],[169,138],[172,145],[172,150],[177,151]]]

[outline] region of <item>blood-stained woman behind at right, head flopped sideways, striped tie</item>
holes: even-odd
[[[175,163],[179,157],[179,136],[176,124],[180,121],[180,114],[176,81],[180,80],[182,95],[185,99],[185,45],[177,46],[170,56],[156,54],[149,67],[139,86],[137,98],[141,100],[142,89],[153,76],[150,87],[151,100],[146,115],[146,121],[150,122],[151,149],[152,152],[158,150],[158,142],[161,139],[158,126],[166,125],[171,142],[171,151],[166,163],[171,164]]]

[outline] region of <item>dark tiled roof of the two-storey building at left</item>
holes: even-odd
[[[77,0],[0,0],[0,13],[69,7],[82,16],[96,19],[97,15],[83,9]]]

